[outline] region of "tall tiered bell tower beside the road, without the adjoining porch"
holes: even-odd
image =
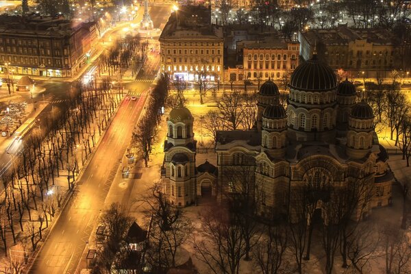
[[[195,202],[195,151],[192,132],[194,119],[190,110],[180,105],[167,118],[167,140],[164,143],[162,179],[164,192],[177,207]]]

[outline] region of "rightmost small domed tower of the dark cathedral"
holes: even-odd
[[[356,103],[348,120],[347,155],[353,159],[364,158],[373,146],[373,133],[373,110],[364,101]]]

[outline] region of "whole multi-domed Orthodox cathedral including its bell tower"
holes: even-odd
[[[373,110],[358,100],[356,87],[347,79],[338,83],[334,71],[314,54],[292,73],[289,90],[284,109],[276,84],[262,84],[256,127],[217,132],[217,166],[195,165],[192,115],[184,107],[171,110],[162,167],[171,202],[187,206],[204,195],[223,197],[238,191],[235,177],[247,173],[258,190],[262,215],[287,214],[293,189],[308,180],[371,185],[365,215],[390,204],[388,155],[378,143]]]

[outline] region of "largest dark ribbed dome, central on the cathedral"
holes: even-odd
[[[336,88],[337,79],[334,71],[320,62],[316,54],[297,66],[290,79],[290,87],[297,90],[321,91]]]

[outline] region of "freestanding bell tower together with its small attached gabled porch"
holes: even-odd
[[[167,140],[162,166],[163,191],[175,206],[188,206],[197,197],[216,195],[216,167],[206,161],[196,166],[197,141],[192,132],[194,119],[183,106],[171,110],[167,118]]]

